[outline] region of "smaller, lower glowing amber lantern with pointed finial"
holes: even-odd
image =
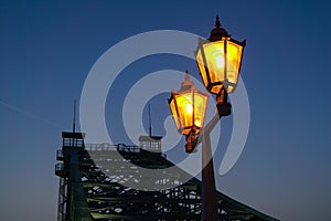
[[[186,71],[181,90],[172,90],[169,106],[179,133],[186,136],[186,151],[192,152],[195,139],[203,126],[209,94],[197,91]]]

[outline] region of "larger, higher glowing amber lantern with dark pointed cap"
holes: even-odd
[[[223,88],[232,93],[238,82],[242,57],[246,40],[238,42],[221,28],[216,17],[215,29],[209,40],[199,40],[195,52],[203,83],[213,94],[220,94]]]

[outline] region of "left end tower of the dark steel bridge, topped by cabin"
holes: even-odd
[[[55,175],[60,177],[57,221],[90,220],[78,160],[84,147],[84,134],[62,133],[62,149],[56,152],[62,162],[55,165]]]

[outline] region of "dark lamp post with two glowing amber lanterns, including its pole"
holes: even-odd
[[[200,75],[205,88],[216,95],[217,107],[217,113],[204,127],[207,95],[199,92],[194,84],[192,86],[192,83],[188,83],[188,72],[182,88],[179,92],[172,91],[169,99],[177,128],[186,136],[186,151],[196,151],[197,145],[202,143],[201,217],[204,221],[220,220],[210,134],[222,116],[231,115],[227,94],[236,88],[245,45],[246,40],[239,42],[231,38],[221,27],[218,17],[209,40],[199,40],[195,59]],[[203,102],[195,102],[199,99]],[[199,139],[195,138],[197,135]]]

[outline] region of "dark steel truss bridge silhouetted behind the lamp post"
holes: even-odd
[[[189,179],[180,169],[178,173],[166,171],[175,166],[159,151],[160,137],[142,137],[139,147],[85,145],[82,133],[62,133],[62,149],[56,154],[61,162],[55,165],[58,221],[201,220],[201,181]],[[146,175],[140,168],[158,169],[159,176]],[[181,183],[179,177],[189,181]],[[162,190],[130,188],[135,183],[157,183]],[[216,194],[218,220],[277,220],[222,192]]]

